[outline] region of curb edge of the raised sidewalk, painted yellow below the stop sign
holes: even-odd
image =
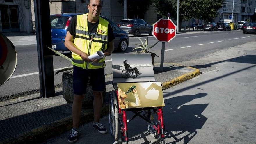
[[[165,63],[165,64],[175,64],[175,63]],[[178,64],[175,64],[175,65],[178,65]],[[183,65],[179,65],[179,66],[183,66]],[[198,70],[196,68],[193,68],[193,67],[188,67],[188,68],[193,69],[194,71],[186,73],[179,77],[176,77],[175,79],[173,79],[171,81],[163,82],[162,89],[165,90],[167,88],[175,86],[179,83],[182,83],[186,80],[192,79],[193,77],[196,77],[201,74],[200,70]],[[102,106],[102,115],[101,116],[106,116],[106,115],[108,115],[108,113],[109,113],[109,104],[104,104]],[[82,110],[81,117],[80,117],[80,125],[93,121],[93,115],[94,115],[93,109]],[[68,131],[71,128],[72,128],[72,116],[68,116],[61,120],[52,122],[49,125],[44,125],[42,127],[33,129],[30,132],[27,132],[25,134],[21,134],[14,138],[9,138],[5,141],[0,142],[0,144],[38,143],[38,142],[45,141],[48,138],[52,138],[53,136],[56,136],[58,134],[61,134],[64,131]]]

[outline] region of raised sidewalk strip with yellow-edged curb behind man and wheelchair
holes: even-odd
[[[200,74],[198,69],[165,63],[164,71],[157,72],[160,64],[154,64],[155,80],[163,89],[191,79]],[[108,93],[113,90],[112,75],[106,75],[106,97],[103,115],[108,114]],[[56,89],[55,97],[40,98],[40,94],[0,102],[0,144],[39,142],[67,131],[72,126],[72,109],[63,99],[62,89]],[[93,110],[83,110],[82,123],[92,121]]]

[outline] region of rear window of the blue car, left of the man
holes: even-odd
[[[51,16],[51,28],[65,29],[69,17],[66,16]]]

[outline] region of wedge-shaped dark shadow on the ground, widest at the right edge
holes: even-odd
[[[214,63],[205,64],[205,65],[193,65],[193,66],[190,66],[190,67],[197,68],[197,69],[207,68],[207,67],[211,67],[212,65],[222,63],[222,62],[225,62],[225,61],[231,61],[231,62],[236,62],[236,63],[256,64],[256,56],[255,55],[245,55],[245,56],[230,58],[230,59],[227,59],[227,60],[217,61],[217,62],[214,62]]]

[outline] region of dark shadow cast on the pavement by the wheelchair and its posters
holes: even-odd
[[[202,112],[208,104],[184,104],[205,96],[207,96],[207,93],[198,93],[196,95],[182,95],[165,100],[166,106],[163,108],[164,124],[166,127],[165,138],[173,139],[173,141],[168,144],[175,144],[182,140],[184,140],[184,144],[187,144],[197,134],[196,130],[202,128],[207,120],[207,118],[202,115]],[[131,112],[128,113],[127,118],[132,116]],[[139,122],[138,119],[140,120]],[[147,131],[147,123],[140,118],[138,119],[127,124],[129,137],[132,137],[129,138],[129,141],[143,138],[145,141],[143,144],[149,144],[150,139],[147,139],[146,136],[150,134],[149,132],[145,133],[145,131]]]

